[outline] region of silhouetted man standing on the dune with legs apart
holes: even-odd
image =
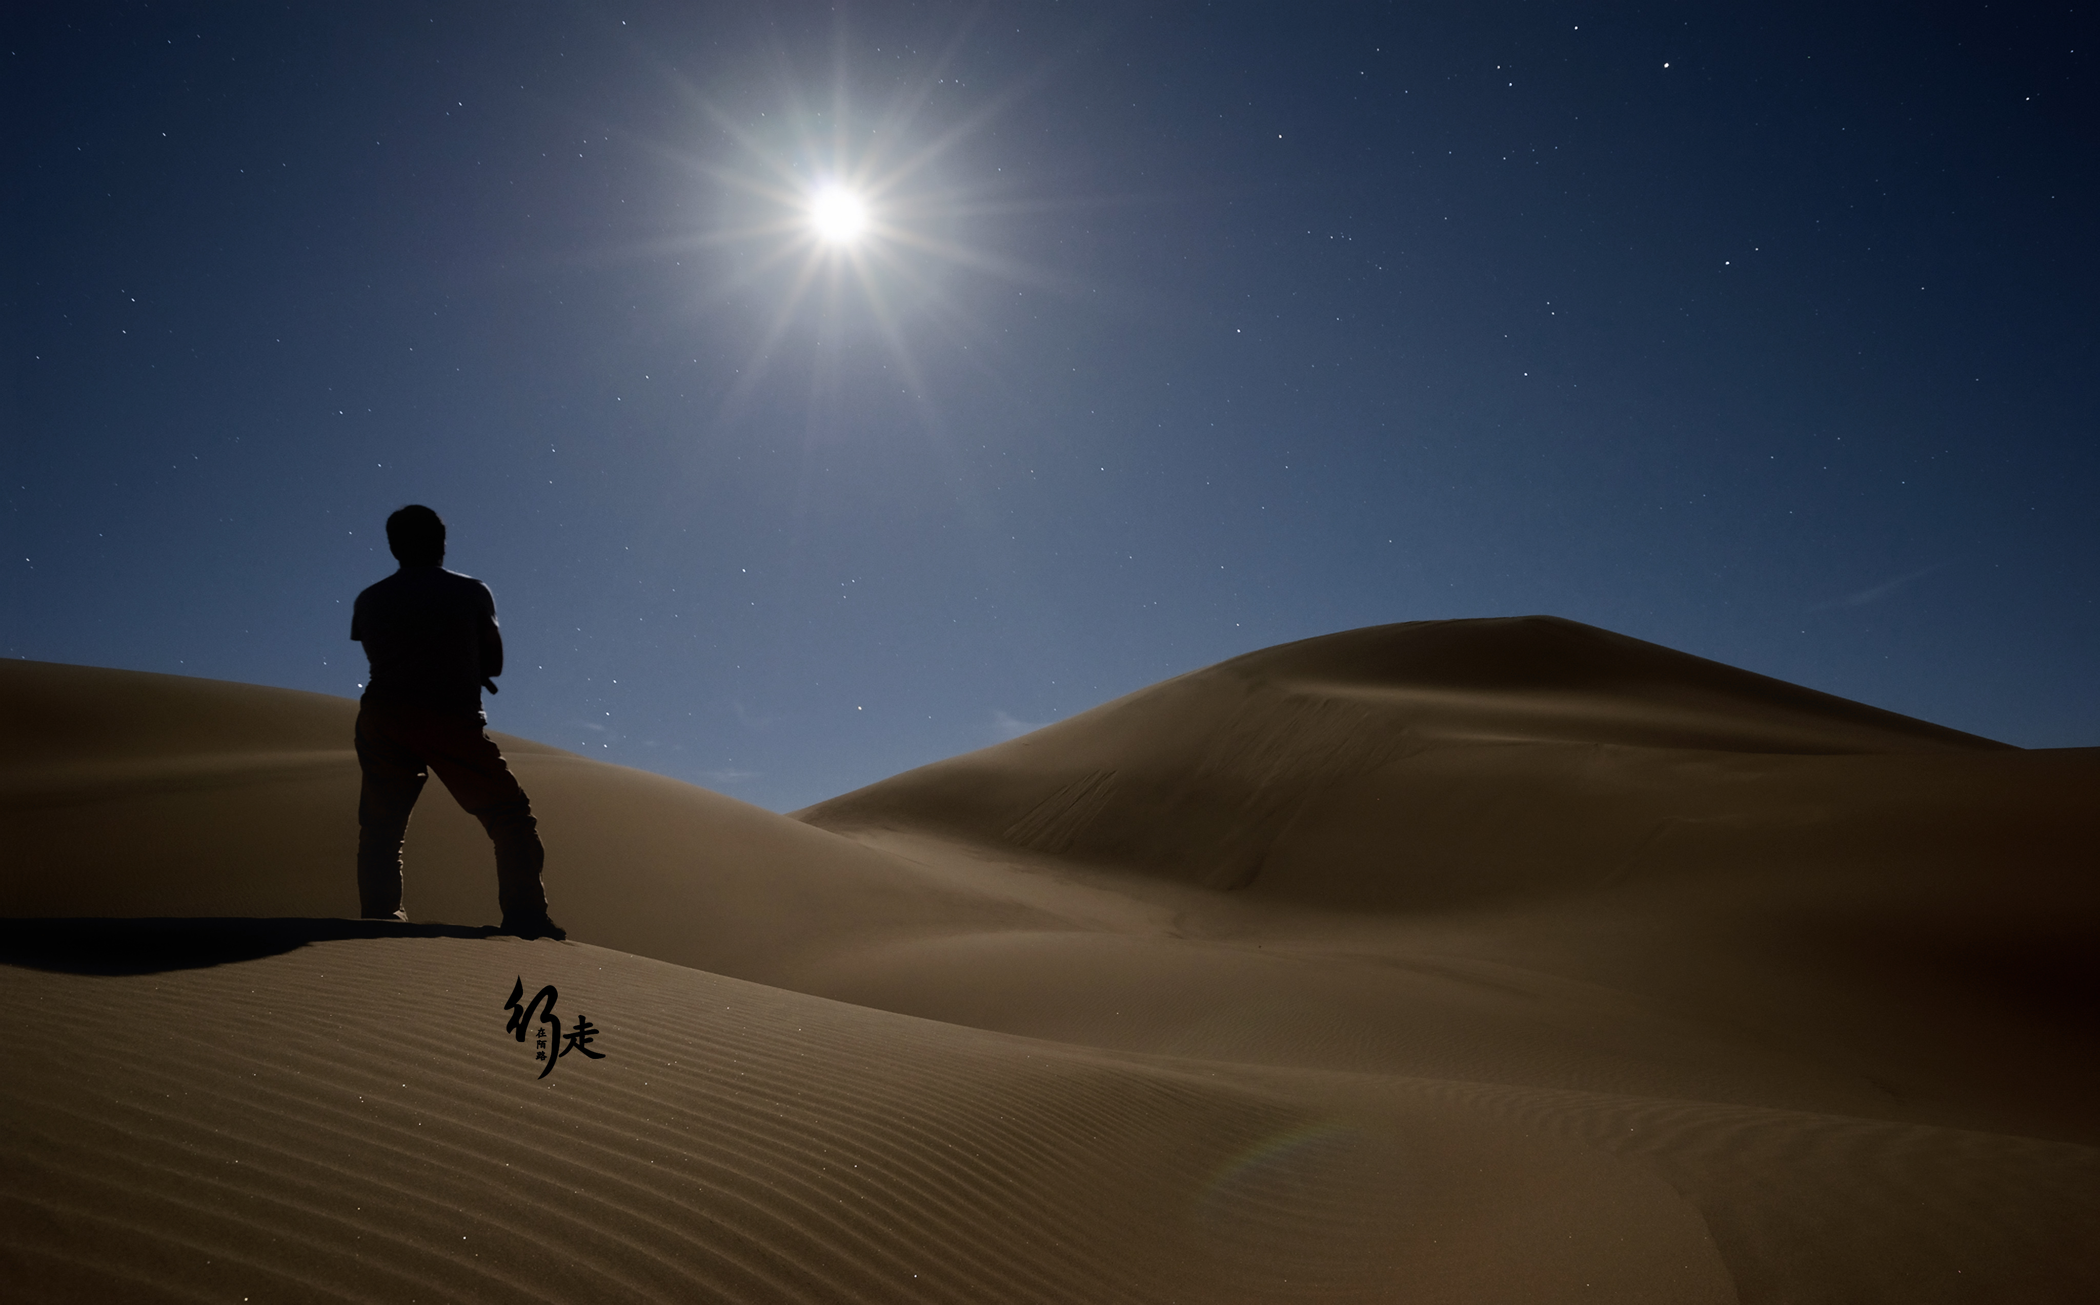
[[[386,548],[401,569],[357,596],[351,638],[372,678],[357,709],[357,898],[365,919],[401,911],[401,837],[428,770],[445,780],[496,843],[496,898],[504,934],[567,938],[546,915],[540,827],[502,749],[483,726],[481,690],[504,673],[496,598],[479,579],[445,571],[445,522],[410,504],[386,518]]]

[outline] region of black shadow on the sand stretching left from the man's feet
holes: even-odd
[[[59,974],[160,974],[258,961],[346,938],[494,938],[496,925],[386,919],[0,919],[0,965]]]

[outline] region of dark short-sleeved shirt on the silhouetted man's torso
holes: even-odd
[[[504,673],[496,596],[443,566],[403,566],[359,594],[351,638],[372,663],[372,705],[479,715],[483,676]]]

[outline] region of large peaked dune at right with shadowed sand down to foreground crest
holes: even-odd
[[[796,812],[1157,908],[1136,938],[928,936],[804,986],[1134,1049],[2090,1139],[2096,793],[2096,749],[1571,621],[1357,629]]]

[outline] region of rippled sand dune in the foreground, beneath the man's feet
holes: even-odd
[[[517,971],[607,1060],[533,1078]],[[1323,1106],[590,946],[8,982],[63,1051],[6,1087],[6,1240],[57,1299],[1384,1299],[1401,1265],[1411,1299],[1728,1299],[1665,1183],[1430,1097]]]

